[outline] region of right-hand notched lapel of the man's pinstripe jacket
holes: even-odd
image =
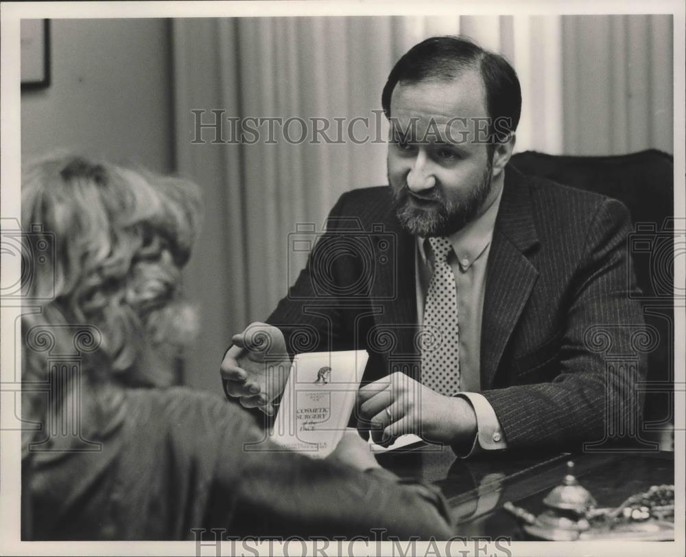
[[[519,171],[508,166],[486,271],[481,334],[482,389],[493,385],[505,346],[539,276],[525,255],[538,242],[529,186]]]

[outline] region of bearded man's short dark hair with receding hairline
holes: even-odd
[[[521,88],[514,68],[499,54],[488,52],[467,38],[437,36],[414,45],[396,62],[381,93],[381,106],[390,117],[390,98],[396,85],[421,81],[449,81],[467,69],[479,70],[490,117],[490,143],[503,141],[517,130]],[[495,122],[498,125],[495,126]]]

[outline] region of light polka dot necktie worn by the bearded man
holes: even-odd
[[[429,238],[434,251],[434,276],[424,306],[425,339],[422,350],[422,383],[440,394],[460,391],[458,293],[448,264],[453,247],[446,238]]]

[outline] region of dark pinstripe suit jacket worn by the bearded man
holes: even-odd
[[[508,447],[575,448],[639,423],[645,359],[632,343],[643,317],[629,231],[619,201],[506,168],[480,374]],[[414,246],[388,186],[347,192],[268,321],[292,352],[365,348],[366,381],[418,378]]]

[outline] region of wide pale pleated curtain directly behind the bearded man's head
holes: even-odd
[[[185,275],[200,304],[202,334],[187,382],[217,387],[231,334],[265,319],[294,280],[289,233],[321,229],[335,200],[386,183],[383,141],[311,144],[193,143],[198,113],[222,117],[320,117],[385,139],[381,89],[394,62],[437,34],[464,34],[501,52],[519,73],[517,150],[561,152],[561,21],[558,16],[298,17],[180,19],[173,25],[178,171],[204,189],[206,223]],[[376,124],[381,125],[380,138]],[[266,129],[266,128],[261,128]],[[296,122],[291,137],[300,135]],[[230,135],[228,126],[223,128]],[[276,135],[275,137],[279,137]],[[329,137],[335,139],[333,128]],[[223,139],[228,139],[224,137]]]

